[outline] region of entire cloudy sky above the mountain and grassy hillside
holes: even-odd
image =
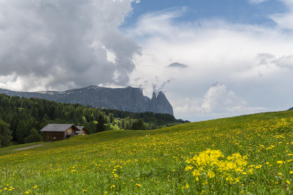
[[[0,0],[0,87],[163,91],[200,121],[293,106],[292,0]]]

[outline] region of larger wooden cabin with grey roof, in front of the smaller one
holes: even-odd
[[[76,136],[80,131],[74,124],[47,124],[41,132],[45,133],[45,141],[60,141],[71,136]]]

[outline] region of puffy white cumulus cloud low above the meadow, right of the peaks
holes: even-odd
[[[206,120],[221,117],[233,117],[268,111],[265,107],[253,107],[226,85],[215,84],[209,88],[205,96],[197,100],[182,100],[182,105],[174,108],[174,112],[189,120]]]

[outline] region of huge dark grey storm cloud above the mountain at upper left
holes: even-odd
[[[119,30],[130,12],[131,0],[3,0],[0,76],[20,78],[23,90],[125,85],[140,53]]]

